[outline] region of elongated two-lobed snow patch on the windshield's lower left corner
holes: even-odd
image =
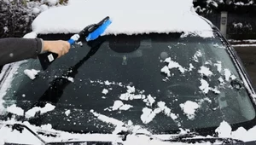
[[[44,107],[32,107],[25,113],[26,118],[32,118],[36,113],[40,112],[40,114],[47,113],[55,109],[55,106],[47,103]]]

